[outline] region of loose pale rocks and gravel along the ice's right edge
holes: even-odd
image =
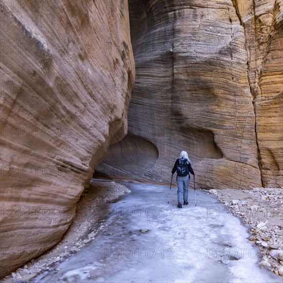
[[[283,188],[209,190],[227,206],[227,216],[250,227],[250,241],[259,246],[261,266],[283,276]]]

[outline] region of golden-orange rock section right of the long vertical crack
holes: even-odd
[[[283,2],[234,0],[244,27],[264,186],[282,186]]]

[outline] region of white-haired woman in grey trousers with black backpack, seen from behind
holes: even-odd
[[[190,173],[194,175],[191,168],[191,162],[186,151],[182,151],[180,157],[176,160],[172,169],[172,176],[177,171],[177,185],[178,185],[178,207],[182,208],[182,199],[184,204],[188,204],[188,188],[190,181]]]

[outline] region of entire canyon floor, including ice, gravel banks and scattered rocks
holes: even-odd
[[[168,192],[93,179],[63,239],[1,282],[282,282],[282,188],[197,190],[197,206],[190,189],[182,209]]]

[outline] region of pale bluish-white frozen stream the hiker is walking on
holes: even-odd
[[[260,268],[246,227],[204,191],[122,183],[132,191],[105,211],[104,231],[33,282],[282,282]],[[101,208],[102,209],[102,208]]]

